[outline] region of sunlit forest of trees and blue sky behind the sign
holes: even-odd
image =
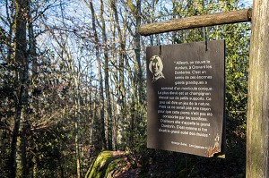
[[[146,148],[145,47],[204,40],[203,29],[141,37],[143,23],[248,7],[239,0],[0,1],[0,177],[81,177],[102,150],[141,177],[244,177],[250,23],[205,29],[226,41],[226,158]]]

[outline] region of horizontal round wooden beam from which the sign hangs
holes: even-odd
[[[141,35],[147,36],[175,30],[186,30],[213,25],[251,21],[251,14],[251,9],[244,9],[228,13],[213,13],[193,16],[184,19],[144,24],[140,27],[139,32]]]

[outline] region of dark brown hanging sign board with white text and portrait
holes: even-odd
[[[147,146],[213,157],[223,150],[223,40],[147,47]]]

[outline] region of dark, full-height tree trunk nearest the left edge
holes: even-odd
[[[25,106],[25,98],[27,92],[25,91],[26,81],[28,80],[28,60],[27,60],[27,42],[26,42],[26,18],[23,12],[27,10],[27,2],[24,0],[17,0],[16,4],[16,18],[15,18],[15,63],[18,64],[18,78],[21,83],[19,90],[18,101],[16,106],[16,115],[13,127],[13,139],[11,145],[11,177],[16,177],[17,174],[17,141],[19,137],[19,130],[22,120],[23,106]],[[22,154],[26,154],[22,152]],[[22,155],[22,174],[26,169],[25,155]]]

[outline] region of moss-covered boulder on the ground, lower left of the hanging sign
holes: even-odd
[[[117,177],[129,167],[126,152],[103,151],[91,164],[85,178]]]

